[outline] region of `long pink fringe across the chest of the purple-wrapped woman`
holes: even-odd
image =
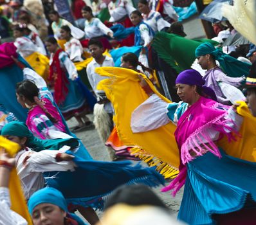
[[[228,141],[235,140],[232,132],[239,134],[235,129],[226,125],[227,123],[233,123],[233,121],[230,119],[223,120],[224,116],[226,116],[226,113],[214,120],[211,120],[190,134],[181,146],[181,161],[184,165],[195,159],[197,156],[203,156],[205,152],[212,152],[212,154],[221,158],[221,153],[219,152],[217,145],[215,145],[212,138],[210,138],[209,128],[221,132],[220,135],[226,135],[228,137]],[[202,138],[206,140],[205,143]],[[221,138],[221,136],[219,138]],[[191,154],[194,154],[194,156],[191,156]]]

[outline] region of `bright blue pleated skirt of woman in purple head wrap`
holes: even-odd
[[[187,164],[179,220],[217,224],[216,215],[256,208],[256,163],[220,151],[221,159],[208,152]]]

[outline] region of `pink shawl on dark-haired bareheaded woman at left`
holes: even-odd
[[[59,131],[66,132],[66,127],[62,123],[62,118],[61,118],[58,110],[56,109],[56,107],[47,98],[42,98],[41,101],[42,101],[42,104],[44,105],[44,107],[51,114],[51,116],[53,116],[54,118],[57,119],[57,123],[53,123],[54,126]],[[37,125],[33,122],[34,118],[39,117],[41,114],[46,115],[46,113],[44,113],[44,111],[42,110],[42,108],[39,105],[36,105],[35,107],[33,107],[33,109],[31,109],[28,112],[28,118],[26,119],[26,125],[28,126],[28,129],[30,129],[30,131],[35,131],[37,133],[37,136],[39,136],[41,139],[46,139],[46,137],[44,137],[44,135],[41,134],[41,132],[39,132],[39,130],[37,129]],[[48,124],[45,121],[44,121],[44,125],[46,127],[48,127]]]

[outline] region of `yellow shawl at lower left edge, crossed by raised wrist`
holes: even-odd
[[[14,157],[19,151],[20,146],[17,143],[0,136],[0,148],[5,149],[10,156]],[[29,225],[32,225],[32,219],[30,213],[28,213],[28,207],[24,199],[23,191],[21,190],[21,182],[17,175],[16,168],[13,168],[10,172],[9,190],[12,204],[11,209],[26,219]]]

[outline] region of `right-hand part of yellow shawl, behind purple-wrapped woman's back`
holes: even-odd
[[[256,118],[253,117],[245,102],[239,102],[237,113],[244,118],[242,127],[239,131],[241,137],[237,141],[228,142],[227,138],[219,141],[218,145],[226,153],[235,158],[247,161],[256,161]]]

